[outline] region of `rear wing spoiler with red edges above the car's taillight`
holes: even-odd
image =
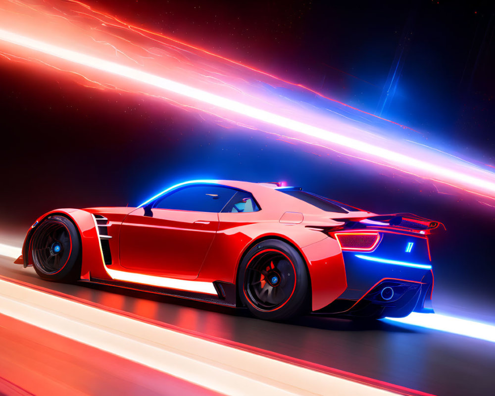
[[[378,227],[394,227],[404,230],[420,231],[421,234],[431,234],[433,230],[446,229],[443,223],[426,219],[412,213],[394,213],[367,217],[360,223]]]

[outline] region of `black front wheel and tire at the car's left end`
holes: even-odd
[[[81,240],[76,226],[66,217],[50,216],[40,223],[29,248],[33,267],[40,278],[73,282],[81,275]]]

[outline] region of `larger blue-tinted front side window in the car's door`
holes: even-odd
[[[153,207],[218,213],[236,192],[237,190],[216,185],[188,186],[158,199]]]

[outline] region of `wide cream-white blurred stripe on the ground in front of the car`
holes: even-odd
[[[1,280],[0,313],[225,395],[394,394]]]

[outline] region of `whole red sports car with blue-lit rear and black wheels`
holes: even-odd
[[[262,319],[400,317],[433,311],[428,235],[439,225],[280,183],[197,180],[138,207],[44,214],[16,263],[49,281],[246,306]]]

